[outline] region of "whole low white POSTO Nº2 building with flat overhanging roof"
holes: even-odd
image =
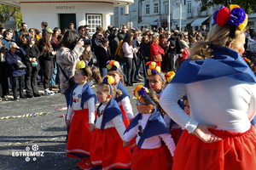
[[[69,23],[78,26],[90,26],[90,32],[96,26],[104,29],[110,25],[113,7],[131,5],[133,0],[11,0],[1,1],[20,7],[22,21],[27,26],[41,30],[41,22],[48,22],[50,28],[68,28]]]

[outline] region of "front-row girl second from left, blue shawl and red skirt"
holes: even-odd
[[[96,95],[97,108],[96,130],[90,144],[90,158],[94,169],[130,169],[131,150],[123,147],[125,124],[122,112],[114,99],[121,91],[113,87],[114,79],[103,77],[98,85]]]

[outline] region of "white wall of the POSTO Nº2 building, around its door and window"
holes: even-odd
[[[58,14],[76,14],[77,26],[85,25],[85,14],[102,14],[102,26],[110,24],[109,14],[113,14],[110,3],[21,3],[22,20],[28,28],[41,30],[41,22],[48,22],[50,28],[59,26]]]

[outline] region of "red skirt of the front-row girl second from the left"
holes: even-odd
[[[123,140],[114,127],[96,129],[90,144],[90,160],[94,169],[127,169],[131,167],[131,150],[123,147]]]

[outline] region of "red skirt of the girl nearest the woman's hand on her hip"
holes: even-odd
[[[131,170],[168,170],[164,147],[138,150],[136,146],[131,156]]]

